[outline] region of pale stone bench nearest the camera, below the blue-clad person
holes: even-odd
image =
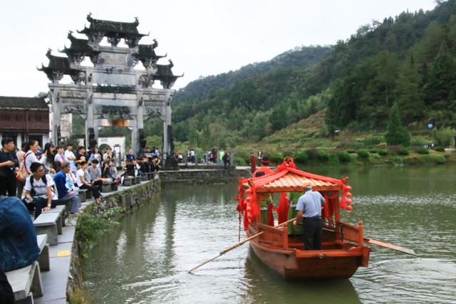
[[[43,283],[37,261],[26,267],[7,272],[6,278],[13,288],[16,302],[33,304],[33,297],[43,296]]]

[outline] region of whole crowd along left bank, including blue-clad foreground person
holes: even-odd
[[[11,296],[4,272],[36,261],[39,248],[31,216],[57,204],[70,202],[71,214],[78,214],[79,189],[92,192],[101,201],[103,182],[118,182],[124,177],[138,177],[149,172],[158,177],[160,152],[146,148],[141,157],[133,150],[125,155],[123,172],[115,167],[115,154],[108,147],[104,153],[97,147],[73,145],[55,147],[46,143],[43,149],[36,140],[16,150],[14,140],[4,137],[0,149],[0,298]],[[1,302],[1,301],[0,301]]]

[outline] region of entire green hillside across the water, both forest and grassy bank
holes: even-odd
[[[432,11],[361,26],[335,46],[195,80],[173,101],[176,151],[222,147],[239,162],[252,147],[273,159],[316,150],[305,162],[452,161],[442,150],[455,145],[455,68],[456,0],[437,1]],[[393,107],[400,143],[397,133],[388,139]]]

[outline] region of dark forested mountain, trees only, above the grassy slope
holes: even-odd
[[[456,0],[374,21],[327,56],[302,58],[285,53],[190,83],[173,106],[176,140],[259,142],[323,108],[328,135],[384,130],[394,103],[405,125],[456,126]]]

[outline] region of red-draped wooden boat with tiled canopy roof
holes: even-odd
[[[333,179],[291,167],[262,177],[241,179],[237,209],[244,216],[244,231],[248,237],[262,232],[250,241],[254,253],[267,266],[291,280],[350,278],[359,266],[367,267],[371,248],[364,243],[363,223],[360,221],[355,226],[341,221],[341,209],[351,210],[351,187],[347,182],[348,178]],[[261,210],[261,199],[268,194],[280,194],[276,208],[279,223],[293,218],[285,193],[302,193],[306,184],[311,184],[326,200],[321,214],[322,250],[305,251],[301,235],[292,232],[293,226],[264,223],[265,216],[261,216],[261,212],[265,212]]]

